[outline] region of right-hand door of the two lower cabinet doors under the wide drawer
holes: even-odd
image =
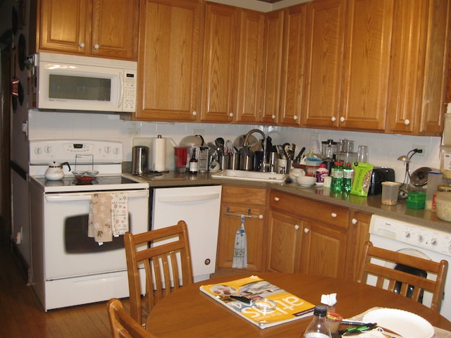
[[[347,264],[346,231],[310,220],[303,225],[300,272],[342,278]]]

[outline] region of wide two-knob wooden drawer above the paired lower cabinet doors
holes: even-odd
[[[328,223],[344,229],[348,227],[349,210],[333,204],[311,201],[282,192],[271,192],[270,206],[300,218],[310,218],[319,223]]]

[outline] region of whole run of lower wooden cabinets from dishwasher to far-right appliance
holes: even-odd
[[[266,199],[266,189],[223,187],[218,268],[232,268],[240,215],[249,213],[246,270],[355,280],[371,214],[269,190]]]

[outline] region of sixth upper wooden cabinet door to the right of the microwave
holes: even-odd
[[[303,123],[337,127],[342,92],[346,0],[312,1],[307,6],[306,88]]]

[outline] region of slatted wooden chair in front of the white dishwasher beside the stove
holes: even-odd
[[[177,238],[175,242],[159,244],[146,249],[140,249],[140,244],[165,239]],[[140,273],[138,265],[144,263],[146,275],[146,299],[147,310],[152,311],[154,305],[182,285],[192,284],[192,264],[190,243],[188,242],[187,225],[185,221],[178,221],[177,225],[164,227],[158,230],[132,234],[127,232],[124,236],[125,256],[127,258],[128,287],[130,289],[130,313],[138,323],[142,322],[142,308],[146,308],[146,302],[142,302]],[[175,258],[180,253],[180,267]],[[180,269],[179,269],[180,268]],[[182,275],[180,276],[179,270]],[[172,278],[171,278],[172,277]],[[173,285],[168,285],[173,281]],[[145,318],[144,318],[145,320]]]

